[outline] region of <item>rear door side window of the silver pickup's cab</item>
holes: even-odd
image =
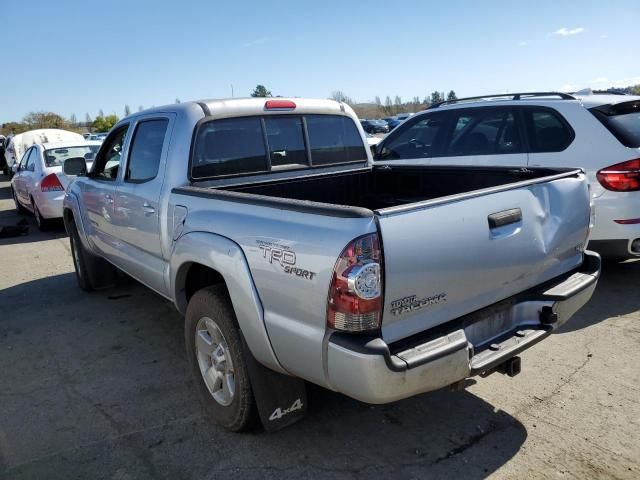
[[[127,182],[146,182],[158,175],[168,126],[169,120],[166,118],[138,123],[129,149],[129,164],[125,177]]]

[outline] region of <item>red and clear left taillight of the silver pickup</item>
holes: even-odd
[[[345,332],[380,328],[382,255],[377,233],[353,240],[333,269],[327,300],[327,325]]]

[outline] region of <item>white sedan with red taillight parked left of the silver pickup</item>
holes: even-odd
[[[62,217],[64,191],[71,181],[62,165],[69,158],[93,162],[102,142],[76,141],[35,144],[25,151],[11,180],[11,193],[20,213],[32,212],[40,230]]]

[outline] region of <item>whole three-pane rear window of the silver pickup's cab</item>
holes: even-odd
[[[266,115],[211,120],[196,132],[191,178],[364,161],[353,120],[341,115]]]

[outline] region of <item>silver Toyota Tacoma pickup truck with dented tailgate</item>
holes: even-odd
[[[349,106],[228,99],[120,121],[64,200],[80,287],[185,315],[208,416],[300,418],[304,381],[385,403],[494,371],[591,297],[579,169],[373,164]]]

